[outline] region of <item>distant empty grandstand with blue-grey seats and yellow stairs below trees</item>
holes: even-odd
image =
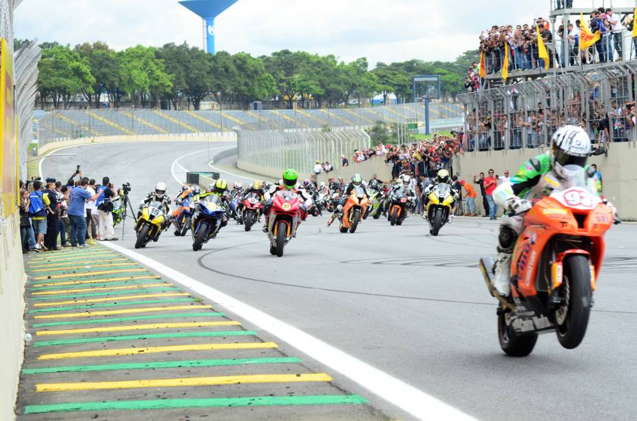
[[[433,103],[430,118],[437,126],[461,124],[461,105]],[[424,122],[421,103],[367,108],[272,109],[262,111],[167,111],[163,109],[90,109],[50,111],[37,114],[39,142],[94,136],[155,135],[167,133],[214,133],[245,124],[267,123],[282,129],[368,127],[376,121]]]

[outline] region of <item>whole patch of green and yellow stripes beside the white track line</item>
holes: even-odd
[[[91,263],[86,264],[87,261]],[[326,373],[306,372],[309,370],[302,366],[302,360],[284,356],[278,351],[278,344],[261,341],[258,332],[244,330],[240,322],[226,319],[223,313],[214,311],[212,305],[200,303],[174,284],[162,281],[137,263],[102,246],[32,257],[27,272],[30,283],[26,314],[34,341],[27,345],[21,381],[31,379],[29,384],[32,384],[35,379],[36,382],[28,389],[21,384],[19,418],[28,414],[75,411],[180,408],[214,411],[214,408],[317,407],[367,402],[361,396],[345,394],[331,386],[333,378]],[[41,339],[45,337],[50,340]],[[243,341],[235,342],[235,338]],[[247,338],[250,341],[246,341]],[[110,343],[131,345],[109,347]],[[45,349],[59,349],[59,352],[39,352]],[[227,358],[228,353],[231,356],[238,352],[240,358]],[[220,358],[186,359],[188,355],[213,356],[217,353],[221,353],[218,354]],[[86,364],[87,361],[92,363]],[[278,367],[282,365],[297,365],[297,369],[280,372]],[[193,373],[199,376],[175,376],[175,370],[187,367],[196,369]],[[224,367],[236,368],[227,374],[218,371]],[[236,372],[248,367],[262,367],[264,372]],[[154,370],[154,374],[161,375],[145,378],[145,370]],[[85,378],[77,377],[91,372],[112,374],[108,381],[87,382]],[[269,389],[259,386],[289,384],[286,387],[289,389],[297,383],[328,384],[334,393],[326,394],[325,389],[317,389],[321,393],[289,396],[286,392],[286,396],[271,396],[265,393]],[[227,385],[242,385],[240,387],[249,396],[186,399],[164,394],[163,398],[152,400],[128,400],[120,396],[109,399],[112,396],[109,393],[127,389],[161,388],[169,393],[178,388],[223,388]],[[223,390],[218,389],[215,394],[222,396]],[[98,392],[94,393],[93,400],[84,394],[81,402],[74,402],[75,391]],[[41,393],[50,392],[56,392],[54,402],[35,403],[42,401],[37,398]],[[95,399],[97,393],[99,398]],[[343,411],[342,418],[347,418],[348,410]],[[258,413],[252,414],[258,418]]]

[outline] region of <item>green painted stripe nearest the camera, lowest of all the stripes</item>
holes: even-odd
[[[175,408],[227,408],[227,407],[275,407],[300,405],[365,404],[368,401],[358,395],[320,396],[255,396],[251,398],[203,398],[203,399],[159,399],[116,400],[112,402],[83,402],[62,404],[28,405],[25,414],[71,411],[122,411]]]

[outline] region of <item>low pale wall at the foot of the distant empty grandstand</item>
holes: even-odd
[[[78,146],[89,143],[112,143],[112,142],[232,142],[236,140],[234,132],[223,133],[174,133],[165,135],[130,135],[130,136],[96,136],[94,138],[61,139],[40,145],[38,155],[46,155],[54,149],[63,147]]]

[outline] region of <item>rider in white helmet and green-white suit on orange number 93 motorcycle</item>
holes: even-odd
[[[503,206],[505,213],[514,215],[503,217],[500,224],[493,286],[501,296],[508,296],[511,292],[511,257],[517,237],[523,230],[523,214],[532,208],[529,199],[550,195],[558,187],[551,177],[544,175],[551,173],[559,182],[572,180],[577,171],[567,169],[568,165],[586,168],[587,177],[594,175],[594,171],[585,167],[591,153],[591,140],[581,127],[560,127],[553,134],[551,143],[550,151],[525,162],[509,182],[500,184],[493,192],[494,201]],[[591,191],[595,191],[594,188]],[[607,204],[614,209],[612,204]]]

